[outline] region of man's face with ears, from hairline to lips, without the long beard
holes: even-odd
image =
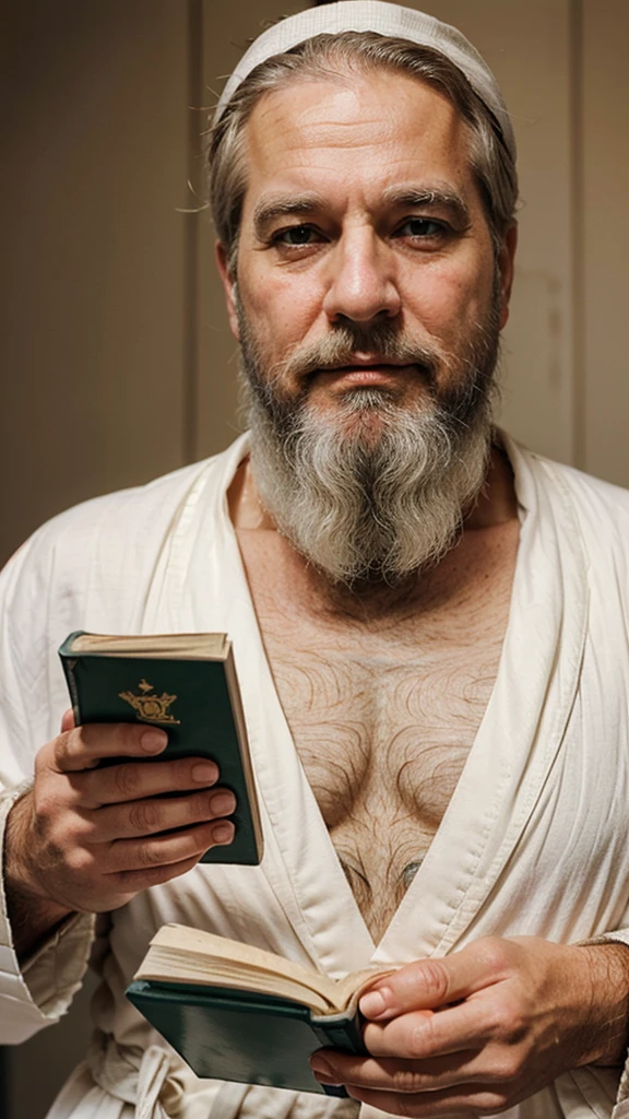
[[[366,388],[401,405],[460,393],[506,321],[511,252],[497,291],[454,106],[392,74],[295,81],[262,98],[246,145],[237,293],[219,264],[232,329],[246,321],[278,397],[332,421]]]

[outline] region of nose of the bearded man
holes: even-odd
[[[328,257],[323,311],[330,322],[394,318],[401,299],[391,250],[369,228],[344,235]]]

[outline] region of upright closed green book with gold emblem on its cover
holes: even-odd
[[[113,637],[78,630],[59,649],[74,717],[142,722],[168,732],[154,759],[210,758],[236,797],[235,835],[204,863],[255,865],[262,827],[232,645],[225,633]],[[129,759],[124,759],[128,761]],[[142,759],[151,764],[152,759]],[[111,764],[111,763],[109,763]]]

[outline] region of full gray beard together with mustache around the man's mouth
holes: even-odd
[[[314,351],[271,374],[241,316],[251,455],[261,499],[278,529],[335,584],[398,586],[439,562],[456,543],[487,473],[498,330],[491,322],[461,358],[401,341],[384,326],[357,338],[335,330]],[[309,369],[350,364],[357,346],[411,358],[428,382],[419,404],[387,389],[355,388],[334,414],[310,407],[308,385],[292,397],[280,385]],[[448,363],[454,391],[438,398],[434,370]]]

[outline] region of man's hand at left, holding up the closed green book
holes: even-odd
[[[147,764],[166,744],[158,727],[75,727],[67,712],[39,751],[34,788],[7,825],[7,893],[22,949],[68,913],[116,909],[232,841],[225,817],[235,800],[214,788],[218,768],[201,758]],[[113,758],[128,760],[97,768]]]

